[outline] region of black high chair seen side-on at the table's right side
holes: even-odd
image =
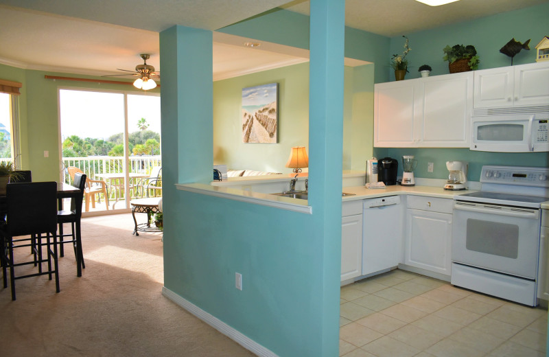
[[[84,254],[82,253],[82,235],[80,234],[80,220],[82,219],[82,198],[84,197],[84,189],[86,187],[86,175],[76,172],[73,179],[73,187],[80,189],[78,196],[71,198],[71,209],[64,209],[57,212],[57,222],[59,224],[59,253],[63,257],[65,251],[63,246],[67,243],[72,243],[74,248],[74,256],[76,258],[76,276],[82,276],[82,268],[86,268],[84,264]],[[71,233],[63,233],[63,224],[71,224]],[[70,240],[65,240],[65,237],[70,237]]]

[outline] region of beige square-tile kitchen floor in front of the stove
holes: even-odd
[[[404,270],[341,288],[340,356],[546,356],[547,310]]]

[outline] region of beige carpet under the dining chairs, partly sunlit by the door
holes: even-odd
[[[31,277],[16,280],[12,301],[8,278],[0,356],[255,356],[161,295],[161,235],[136,237],[132,227],[130,214],[84,218],[86,268],[76,277],[66,244],[58,294],[47,275]]]

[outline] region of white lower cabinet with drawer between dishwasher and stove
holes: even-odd
[[[452,204],[447,198],[408,196],[404,264],[450,275]]]

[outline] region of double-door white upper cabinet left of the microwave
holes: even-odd
[[[469,148],[473,73],[375,84],[374,146]]]

